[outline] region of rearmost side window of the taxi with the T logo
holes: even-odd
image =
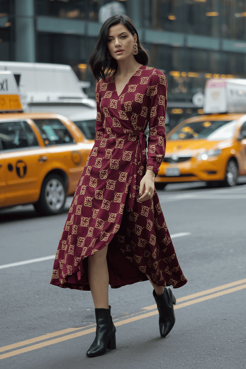
[[[46,146],[75,143],[69,131],[59,119],[33,119]]]

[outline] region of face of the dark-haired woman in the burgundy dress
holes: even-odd
[[[132,36],[123,24],[112,25],[108,29],[108,52],[112,58],[121,61],[134,56],[132,54],[133,44],[137,41],[137,35]]]

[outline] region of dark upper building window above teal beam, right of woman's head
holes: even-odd
[[[143,0],[143,2],[143,27],[231,39],[244,40],[246,37],[244,1]]]

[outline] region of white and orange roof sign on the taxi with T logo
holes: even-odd
[[[23,111],[13,72],[0,70],[0,113]]]

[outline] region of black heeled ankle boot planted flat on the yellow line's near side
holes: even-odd
[[[107,348],[116,348],[116,328],[111,318],[110,309],[111,306],[109,309],[95,309],[97,322],[96,338],[89,350],[86,352],[87,356],[93,357],[104,355],[107,352]]]

